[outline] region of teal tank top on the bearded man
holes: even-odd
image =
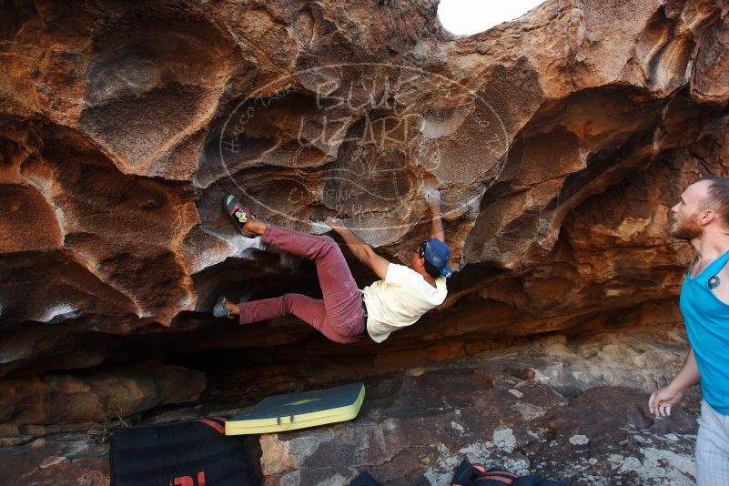
[[[701,373],[704,400],[724,415],[729,415],[729,305],[709,289],[709,279],[728,261],[729,251],[695,278],[691,278],[689,269],[683,278],[680,299],[686,333]]]

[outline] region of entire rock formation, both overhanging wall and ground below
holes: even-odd
[[[107,484],[110,428],[349,380],[357,420],[251,440],[266,484],[445,484],[464,457],[693,481],[699,390],[672,420],[644,403],[685,349],[670,208],[729,175],[727,5],[548,0],[469,36],[437,5],[0,3],[4,484]],[[343,346],[210,315],[221,292],[320,298],[225,191],[407,264],[424,187],[455,271],[416,325]]]

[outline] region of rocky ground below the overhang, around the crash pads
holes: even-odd
[[[343,485],[359,471],[389,485],[445,485],[463,458],[574,485],[693,484],[699,391],[670,419],[646,408],[684,349],[674,326],[552,336],[368,378],[356,420],[262,435],[253,453],[267,485]],[[135,424],[242,410],[225,407],[167,410]],[[46,430],[0,450],[2,483],[107,484],[104,427]]]

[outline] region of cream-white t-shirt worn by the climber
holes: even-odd
[[[390,263],[385,278],[361,289],[367,306],[367,332],[382,342],[390,332],[413,324],[446,298],[446,278],[435,279],[433,287],[410,267]]]

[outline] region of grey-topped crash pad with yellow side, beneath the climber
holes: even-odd
[[[226,435],[281,432],[352,420],[357,417],[363,400],[362,383],[275,395],[227,420]]]

